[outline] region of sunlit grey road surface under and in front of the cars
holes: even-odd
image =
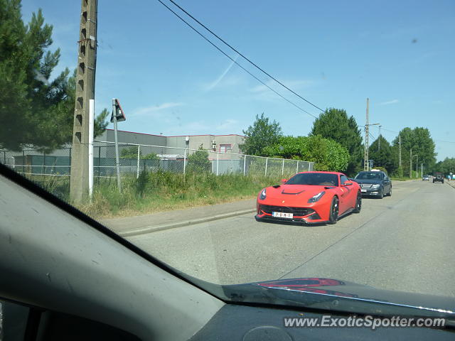
[[[252,214],[128,239],[213,283],[328,277],[397,291],[455,296],[455,188],[416,180],[363,199],[335,225],[256,222]]]

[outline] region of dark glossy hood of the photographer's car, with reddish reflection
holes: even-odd
[[[333,278],[291,278],[228,286],[203,283],[201,287],[219,298],[236,303],[455,320],[455,298],[382,290]]]

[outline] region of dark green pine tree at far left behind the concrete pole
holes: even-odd
[[[55,79],[60,49],[48,50],[53,27],[41,10],[25,25],[20,0],[0,0],[0,147],[35,146],[52,151],[71,142],[75,76],[66,68]],[[95,120],[97,134],[107,110]],[[6,123],[5,123],[6,122]]]

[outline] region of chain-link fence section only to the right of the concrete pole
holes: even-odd
[[[107,141],[97,141],[96,144],[93,148],[95,177],[116,175],[115,144]],[[289,177],[295,173],[312,171],[313,163],[190,148],[119,144],[120,174],[139,176],[142,170]]]

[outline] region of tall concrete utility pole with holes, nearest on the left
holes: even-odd
[[[75,204],[82,202],[89,192],[89,100],[95,99],[97,0],[82,0],[77,43],[79,51],[70,178],[70,200]]]

